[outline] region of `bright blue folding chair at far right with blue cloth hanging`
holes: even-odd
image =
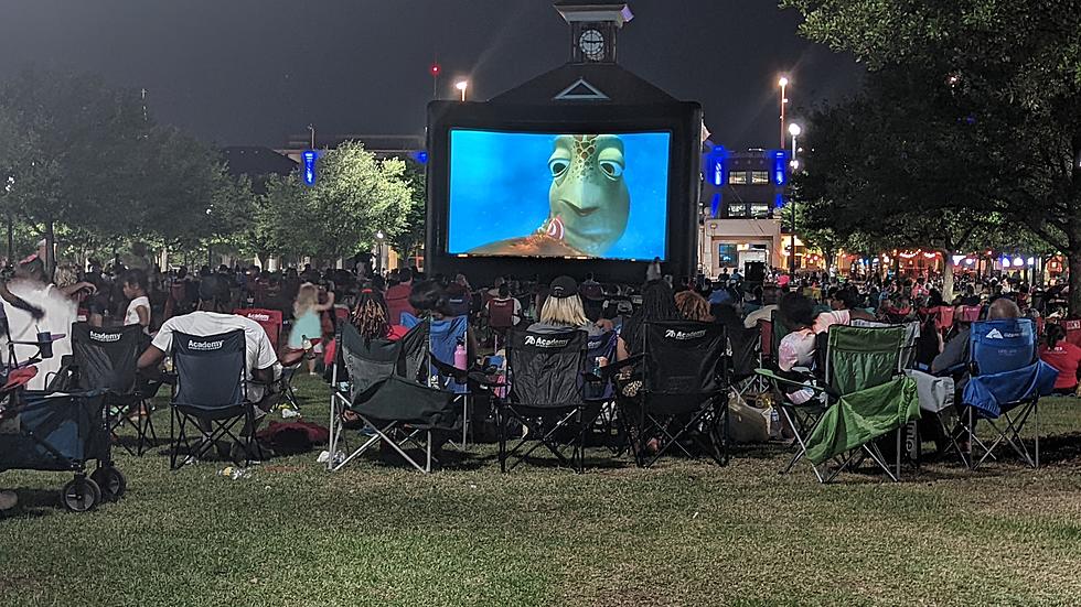
[[[995,449],[1003,444],[1008,444],[1030,467],[1038,468],[1038,403],[1041,395],[1051,393],[1058,373],[1039,360],[1032,319],[973,323],[968,339],[970,377],[962,395],[967,415],[962,415],[962,424],[972,436],[972,447],[983,449],[978,459],[973,453],[972,469],[980,467],[987,458],[994,458]],[[964,423],[965,419],[967,424]],[[986,420],[995,431],[989,445],[976,436],[977,419]],[[1029,419],[1036,426],[1032,452],[1021,437]]]

